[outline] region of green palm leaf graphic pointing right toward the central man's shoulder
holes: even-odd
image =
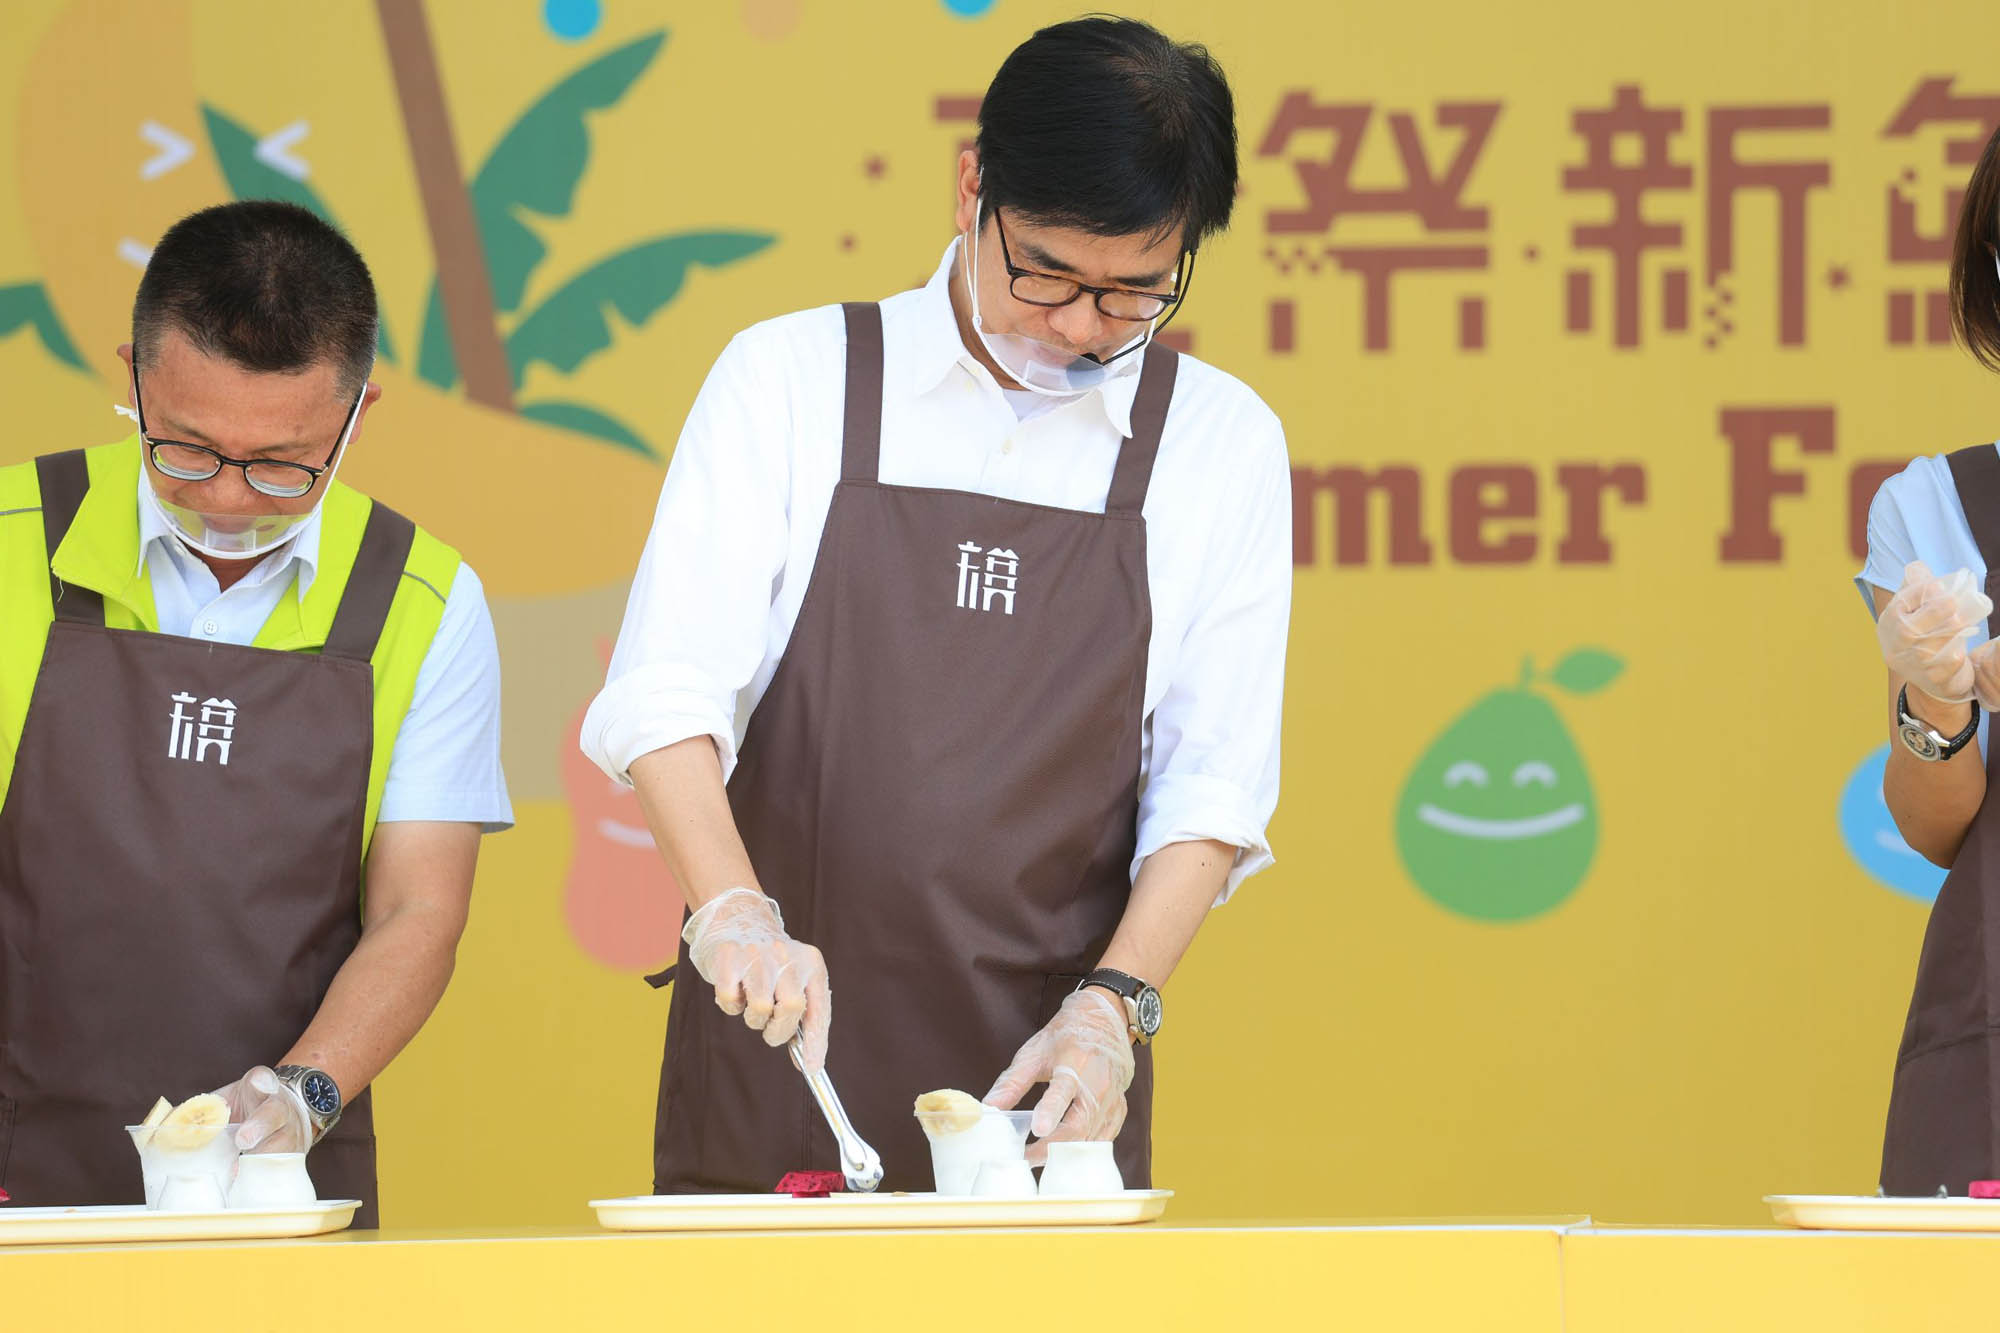
[[[506,358],[518,388],[538,360],[570,374],[612,344],[604,306],[628,324],[644,324],[674,296],[692,264],[720,268],[756,254],[772,236],[752,232],[688,232],[620,250],[564,282],[508,336]]]

